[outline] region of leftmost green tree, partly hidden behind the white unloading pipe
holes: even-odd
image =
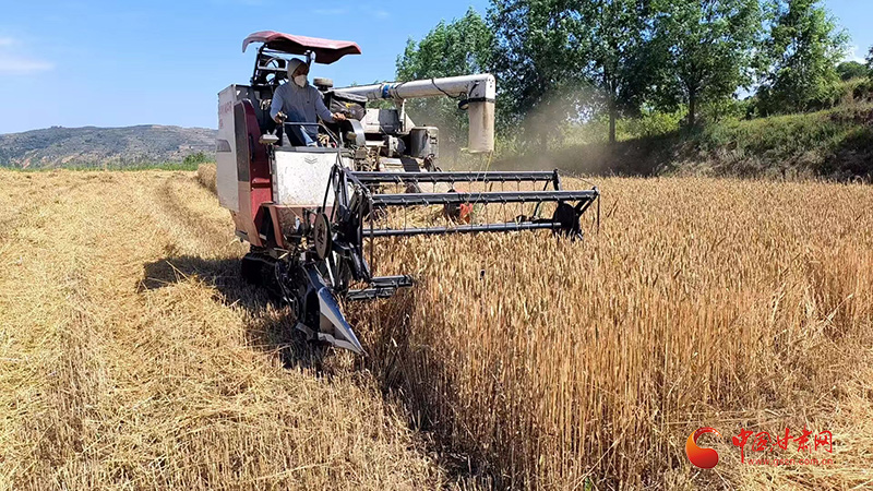
[[[441,21],[420,41],[409,39],[397,57],[397,80],[426,80],[490,71],[494,36],[485,20],[470,8],[450,23]],[[406,103],[418,123],[435,124],[441,137],[459,147],[466,140],[467,117],[452,99],[411,99]]]

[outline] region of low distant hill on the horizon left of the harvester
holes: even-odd
[[[125,128],[51,127],[0,134],[0,167],[103,167],[181,161],[215,152],[215,130],[144,124]]]

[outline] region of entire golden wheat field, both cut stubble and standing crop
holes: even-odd
[[[581,242],[386,241],[322,362],[194,172],[0,172],[0,489],[873,486],[871,189],[598,184]],[[834,465],[730,443],[804,426]]]

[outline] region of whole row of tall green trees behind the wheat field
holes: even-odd
[[[491,72],[498,122],[545,143],[569,121],[615,121],[684,108],[684,123],[717,117],[740,95],[754,115],[833,104],[849,36],[818,0],[492,0],[409,39],[398,80]],[[873,61],[873,49],[871,49]],[[419,110],[463,125],[446,101]]]

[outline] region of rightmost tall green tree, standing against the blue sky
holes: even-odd
[[[816,109],[832,99],[849,37],[818,0],[777,0],[758,89],[764,112]]]

